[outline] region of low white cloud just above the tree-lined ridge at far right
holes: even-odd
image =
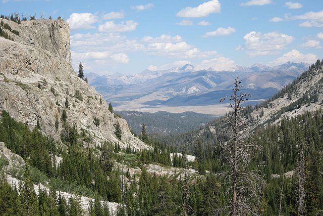
[[[317,59],[317,56],[315,56],[312,53],[302,54],[298,50],[292,50],[288,53],[285,53],[282,57],[275,59],[273,62],[270,62],[270,64],[278,65],[288,61],[296,62],[296,63],[305,62],[310,64],[316,61],[316,59]]]

